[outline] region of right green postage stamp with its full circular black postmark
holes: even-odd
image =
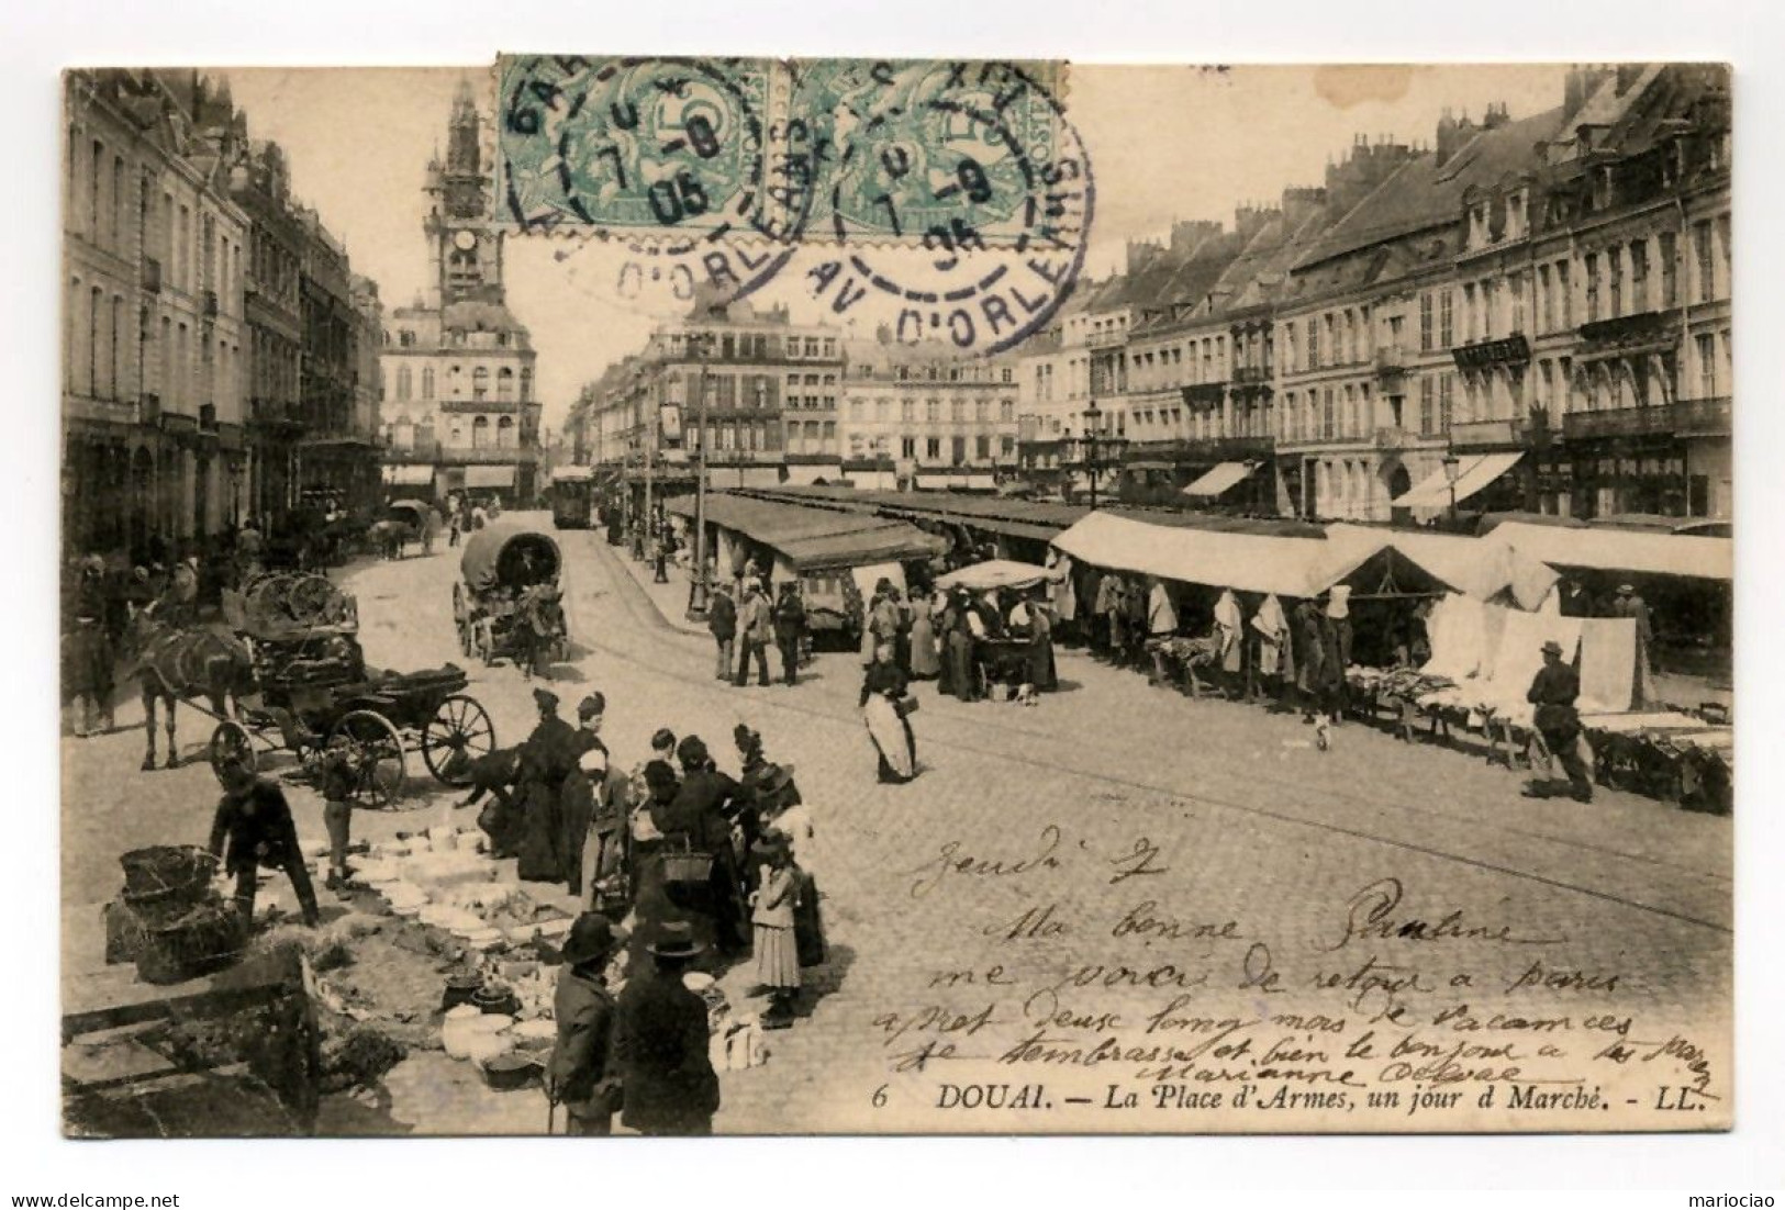
[[[794,111],[826,164],[807,291],[839,318],[1009,350],[1083,268],[1096,187],[1046,64],[801,64]]]

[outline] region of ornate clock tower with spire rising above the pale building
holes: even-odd
[[[482,120],[471,84],[461,82],[446,127],[446,162],[428,164],[428,255],[436,305],[502,298],[502,232],[491,221],[491,178],[484,171]]]

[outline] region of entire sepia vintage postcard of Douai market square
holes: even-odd
[[[1726,66],[61,87],[68,1135],[1737,1119]]]

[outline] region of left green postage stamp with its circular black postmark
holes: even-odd
[[[812,166],[778,139],[776,64],[541,55],[500,89],[500,218],[625,244],[621,298],[741,298],[793,255]]]

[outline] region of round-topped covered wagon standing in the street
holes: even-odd
[[[512,525],[475,530],[452,585],[459,650],[484,664],[507,655],[527,671],[537,669],[568,635],[562,568],[564,557],[548,534]]]

